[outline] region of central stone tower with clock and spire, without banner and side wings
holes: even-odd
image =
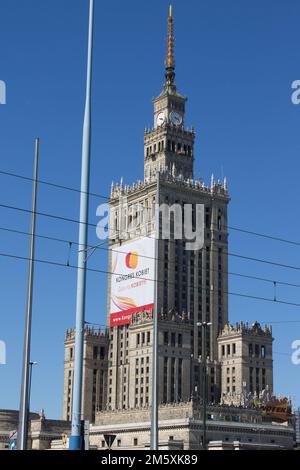
[[[133,241],[147,243],[153,237],[155,203],[167,205],[170,209],[170,237],[160,238],[158,250],[161,402],[188,398],[195,390],[200,390],[199,356],[202,345],[197,322],[201,321],[211,322],[207,335],[211,376],[209,398],[213,401],[219,398],[217,336],[228,320],[227,183],[226,180],[216,182],[212,177],[208,187],[201,180],[194,179],[195,132],[185,124],[186,102],[175,83],[173,15],[170,7],[165,82],[162,92],[153,100],[153,128],[146,129],[144,135],[144,180],[131,186],[124,185],[123,181],[112,185],[110,207],[113,216],[108,269],[109,273],[114,272],[116,260],[113,253],[126,251],[126,246],[131,248]],[[186,204],[193,207],[193,228],[195,207],[197,204],[204,205],[204,246],[200,250],[186,249],[188,240],[184,233],[179,239],[176,235],[178,206],[184,218]],[[107,323],[111,327],[108,403],[113,409],[147,405],[151,401],[152,309],[150,306],[148,323],[144,320],[140,324],[136,318],[131,322],[130,315],[125,321],[112,323],[112,316],[115,319],[111,308],[113,276],[115,274],[109,274],[107,304]],[[122,301],[125,301],[124,298]],[[122,304],[117,310],[126,311],[126,305]],[[131,314],[134,315],[134,309],[131,309]],[[120,319],[118,315],[117,318]]]

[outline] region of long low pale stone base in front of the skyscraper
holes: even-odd
[[[202,448],[202,407],[196,401],[161,405],[159,408],[159,442],[174,442],[177,449]],[[90,428],[90,442],[98,449],[107,448],[104,434],[116,436],[112,449],[145,449],[150,443],[149,408],[100,412]],[[292,449],[293,422],[271,423],[255,409],[209,406],[207,421],[209,441],[239,442],[241,447],[256,449]],[[160,447],[162,448],[162,447]]]

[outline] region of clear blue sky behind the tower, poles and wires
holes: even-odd
[[[143,131],[152,123],[151,98],[163,84],[168,2],[96,0],[91,190],[108,194],[111,180],[142,178]],[[300,106],[291,83],[300,79],[300,4],[297,0],[175,0],[177,85],[188,96],[187,123],[195,127],[195,176],[227,175],[230,225],[300,241]],[[41,138],[40,178],[79,187],[86,70],[87,0],[2,0],[0,170],[32,175],[34,138]],[[96,223],[91,200],[90,221]],[[0,204],[30,209],[31,184],[0,175]],[[38,207],[78,217],[76,193],[40,187]],[[1,227],[28,231],[29,216],[0,208]],[[78,226],[38,218],[37,232],[77,240]],[[300,266],[300,249],[238,232],[230,252]],[[0,231],[0,252],[28,256],[28,238]],[[96,243],[95,230],[90,242]],[[37,242],[37,256],[66,262],[67,246]],[[71,261],[76,263],[75,250]],[[107,269],[105,252],[90,267]],[[17,408],[23,346],[27,263],[0,257],[0,408]],[[230,257],[230,270],[300,283],[297,270]],[[34,290],[32,408],[61,416],[64,332],[75,318],[76,273],[37,265]],[[230,277],[230,291],[272,298],[271,284]],[[279,287],[281,299],[300,303],[300,289]],[[104,323],[106,276],[89,273],[87,319]],[[300,320],[300,309],[230,296],[235,322]],[[277,393],[300,405],[300,366],[291,343],[300,323],[275,324]],[[280,354],[279,354],[280,353]]]

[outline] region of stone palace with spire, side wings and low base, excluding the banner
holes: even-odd
[[[186,103],[176,87],[170,8],[165,81],[153,100],[153,128],[144,133],[144,178],[131,186],[123,181],[113,183],[110,197],[116,220],[122,211],[128,232],[138,217],[135,208],[146,207],[151,212],[157,202],[204,206],[202,249],[187,250],[186,240],[172,236],[158,240],[160,447],[196,449],[201,443],[203,346],[197,325],[201,322],[210,323],[205,344],[208,440],[247,442],[250,446],[258,426],[266,446],[284,446],[289,437],[282,431],[279,444],[274,437],[278,431],[271,429],[271,422],[263,423],[262,414],[254,407],[255,401],[272,399],[272,331],[259,323],[228,322],[228,186],[226,179],[215,181],[212,177],[209,185],[194,179],[195,131],[186,126]],[[146,235],[152,233],[153,224],[151,219],[145,222]],[[123,241],[118,233],[116,223],[115,235],[110,238],[109,273],[113,271],[112,252],[141,237],[131,231],[130,240]],[[133,314],[128,323],[111,325],[112,279],[108,276],[107,329],[85,331],[83,419],[90,421],[91,444],[98,448],[106,446],[105,433],[116,435],[115,446],[119,448],[145,448],[150,442],[153,311],[145,310]],[[74,341],[74,330],[67,331],[65,420],[70,420],[72,411]]]

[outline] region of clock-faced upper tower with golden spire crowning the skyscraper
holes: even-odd
[[[162,93],[153,100],[154,126],[145,130],[144,179],[150,180],[157,171],[169,170],[173,176],[193,178],[193,129],[184,124],[187,98],[180,95],[175,85],[174,35],[172,7],[169,11],[168,54],[165,84]]]

